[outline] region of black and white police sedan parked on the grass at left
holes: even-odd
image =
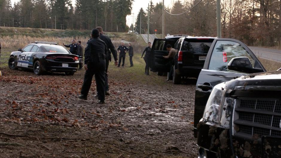
[[[33,69],[34,74],[43,72],[65,72],[74,75],[78,69],[78,56],[71,54],[66,48],[54,42],[39,42],[29,44],[23,49],[10,54],[10,69]]]

